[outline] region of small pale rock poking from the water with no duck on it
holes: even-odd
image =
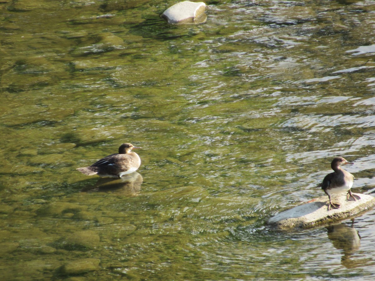
[[[207,16],[203,2],[182,1],[166,9],[161,17],[169,23],[201,23]]]

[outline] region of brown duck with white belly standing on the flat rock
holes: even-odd
[[[353,198],[354,201],[357,201],[357,199],[361,199],[361,197],[359,197],[358,195],[351,193],[350,188],[353,185],[354,176],[340,167],[344,164],[354,163],[350,163],[342,157],[333,158],[331,168],[335,172],[329,173],[323,179],[322,189],[329,198],[328,211],[331,209],[331,207],[333,209],[338,209],[340,207],[339,204],[332,203],[331,194],[348,192],[348,200],[349,198]]]

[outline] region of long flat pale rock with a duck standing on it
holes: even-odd
[[[278,229],[282,230],[296,227],[310,228],[353,217],[375,205],[375,197],[366,194],[353,194],[359,195],[361,199],[351,201],[347,200],[346,194],[332,195],[332,202],[341,205],[339,209],[330,209],[330,211],[328,211],[328,196],[321,196],[275,215],[275,217],[267,221],[267,224],[276,226]]]

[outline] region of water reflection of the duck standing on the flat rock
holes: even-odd
[[[341,264],[346,268],[356,268],[363,265],[363,260],[352,260],[351,256],[361,247],[361,236],[354,228],[354,220],[351,226],[345,223],[327,226],[328,238],[333,247],[343,251]]]

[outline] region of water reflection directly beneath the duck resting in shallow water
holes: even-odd
[[[132,197],[138,196],[142,182],[142,176],[138,172],[133,172],[119,179],[99,178],[95,185],[85,187],[81,191],[111,192]]]

